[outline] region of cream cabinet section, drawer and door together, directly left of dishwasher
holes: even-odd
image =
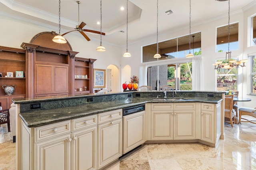
[[[98,168],[122,156],[122,109],[98,114]]]

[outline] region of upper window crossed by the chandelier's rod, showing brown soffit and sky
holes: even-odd
[[[229,50],[238,49],[238,23],[230,24]],[[216,52],[228,51],[228,26],[217,28]]]

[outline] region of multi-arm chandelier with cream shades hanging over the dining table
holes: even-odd
[[[228,52],[226,52],[225,61],[216,61],[216,63],[212,64],[214,66],[214,69],[220,69],[220,68],[231,69],[233,67],[239,68],[239,66],[245,67],[244,63],[246,63],[248,59],[241,59],[240,61],[236,59],[232,59],[231,51],[229,51],[229,38],[230,38],[230,0],[228,0]]]

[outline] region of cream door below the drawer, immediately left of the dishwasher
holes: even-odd
[[[122,119],[98,125],[98,168],[122,156]]]

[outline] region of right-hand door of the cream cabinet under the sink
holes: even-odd
[[[174,139],[195,139],[195,111],[174,111]]]

